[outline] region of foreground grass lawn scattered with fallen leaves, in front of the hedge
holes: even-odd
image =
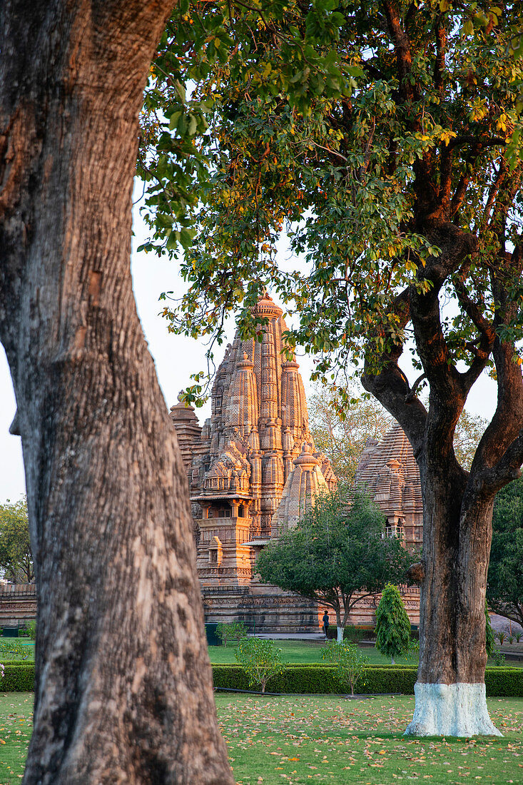
[[[20,782],[31,736],[31,692],[0,693],[0,785]],[[216,696],[239,785],[479,785],[523,782],[523,699],[488,699],[503,739],[406,739],[414,699]]]

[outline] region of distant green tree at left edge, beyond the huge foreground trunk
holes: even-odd
[[[0,568],[13,583],[35,579],[25,497],[0,504]]]

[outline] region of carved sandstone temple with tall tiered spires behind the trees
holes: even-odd
[[[256,308],[268,319],[262,341],[236,334],[218,368],[203,427],[192,407],[177,403],[170,410],[188,474],[203,605],[208,622],[317,631],[324,608],[263,584],[254,567],[269,540],[336,484],[330,462],[314,447],[298,363],[286,359],[283,312],[268,294]],[[369,441],[357,479],[375,495],[389,531],[404,534],[411,546],[421,537],[419,473],[398,428],[382,444]],[[419,599],[416,607],[409,604],[416,623]],[[368,598],[351,621],[371,622],[374,609]]]

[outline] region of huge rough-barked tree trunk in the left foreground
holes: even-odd
[[[27,785],[233,781],[130,279],[137,115],[171,5],[2,5],[0,338],[38,590]]]

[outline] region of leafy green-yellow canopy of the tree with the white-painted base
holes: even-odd
[[[277,24],[254,10],[225,13],[220,3],[185,4],[180,20],[173,17],[153,68],[162,76],[170,63],[175,86],[157,79],[150,91],[172,132],[158,135],[147,102],[144,119],[156,131],[148,149],[155,144],[163,155],[155,177],[146,173],[157,192],[148,200],[154,239],[147,247],[176,246],[172,210],[159,193],[172,181],[173,156],[163,147],[185,122],[193,152],[208,166],[198,175],[204,188],[187,183],[196,212],[195,243],[189,249],[185,237],[181,261],[188,294],[166,316],[192,335],[219,332],[233,308],[249,325],[270,281],[300,312],[291,341],[325,352],[319,374],[364,359],[375,371],[372,357],[396,355],[411,337],[405,290],[420,298],[441,290],[455,309],[441,315],[449,367],[466,363],[471,384],[490,363],[497,323],[507,322],[511,344],[516,337],[515,314],[501,318],[491,279],[495,270],[498,287],[518,299],[519,251],[511,256],[510,248],[518,248],[521,171],[503,154],[521,126],[521,65],[507,49],[518,4],[505,4],[500,15],[451,2],[344,0],[335,15],[339,35],[330,27],[322,39],[327,71],[318,73],[306,45],[287,49],[288,38],[312,29],[311,13],[334,5],[317,3],[308,13],[289,5]],[[220,32],[209,42],[206,25],[213,29],[216,19]],[[249,24],[251,42],[238,46]],[[182,49],[180,26],[199,30]],[[286,81],[290,51],[302,68]],[[176,85],[188,79],[195,86],[185,104]],[[298,94],[307,91],[315,97],[303,107]],[[206,112],[205,133],[186,118],[191,101]],[[274,253],[283,225],[307,260],[291,272]],[[451,238],[459,250],[442,268]],[[408,350],[421,369],[420,347],[408,342]]]

